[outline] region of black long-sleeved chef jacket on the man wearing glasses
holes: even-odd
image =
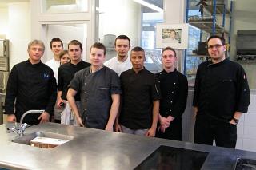
[[[250,104],[250,89],[246,73],[238,63],[225,59],[198,66],[194,85],[193,105],[198,114],[230,121],[236,111],[246,113]]]

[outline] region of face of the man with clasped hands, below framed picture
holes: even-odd
[[[177,57],[172,50],[166,50],[162,53],[162,65],[165,69],[175,67],[175,61],[177,61]]]

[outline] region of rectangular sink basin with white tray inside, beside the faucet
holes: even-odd
[[[53,132],[32,132],[12,140],[14,143],[26,144],[38,148],[54,148],[72,140],[73,136],[62,135]]]

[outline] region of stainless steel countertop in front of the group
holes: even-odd
[[[210,152],[202,169],[234,169],[238,157],[255,159],[256,152],[148,138],[93,128],[46,123],[25,133],[44,131],[74,136],[56,148],[34,148],[11,142],[16,136],[0,125],[0,167],[11,169],[134,169],[160,145]]]

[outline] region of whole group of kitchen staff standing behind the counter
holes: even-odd
[[[54,66],[50,65],[50,69],[41,62],[43,43],[30,42],[28,61],[14,65],[10,73],[7,121],[19,121],[22,113],[31,109],[45,112],[36,121],[29,117],[29,123],[50,121],[50,115],[64,103],[66,113],[74,113],[76,125],[182,140],[188,82],[175,68],[176,51],[170,47],[162,49],[163,70],[154,74],[144,67],[144,49],[136,46],[130,51],[130,38],[126,35],[118,36],[114,45],[117,56],[104,63],[106,47],[95,42],[90,47],[89,64],[82,61],[82,44],[73,40],[68,44],[71,61],[56,65],[54,70]],[[62,41],[53,39],[50,47],[53,59],[58,61]],[[193,101],[197,114],[194,140],[199,144],[212,144],[215,140],[218,146],[234,148],[236,124],[248,109],[250,90],[242,66],[226,59],[225,50],[223,38],[210,37],[211,60],[198,66]]]

